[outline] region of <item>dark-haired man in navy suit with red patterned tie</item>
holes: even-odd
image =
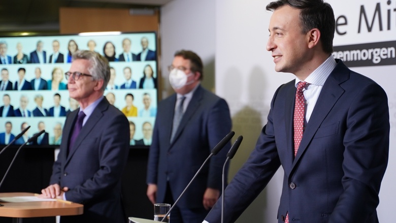
[[[224,222],[234,222],[280,166],[278,223],[378,222],[389,150],[385,91],[334,59],[328,3],[279,0],[267,10],[275,70],[296,78],[276,90],[255,149],[227,186]],[[217,202],[205,220],[220,219]]]

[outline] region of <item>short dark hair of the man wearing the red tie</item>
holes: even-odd
[[[266,9],[273,12],[285,5],[301,10],[302,33],[306,34],[313,28],[319,29],[323,51],[332,53],[336,30],[336,20],[332,6],[323,2],[323,0],[278,0],[268,4]]]

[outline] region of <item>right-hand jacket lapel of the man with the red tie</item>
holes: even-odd
[[[294,168],[296,163],[299,162],[302,154],[307,149],[316,131],[319,129],[320,124],[344,93],[345,90],[340,86],[340,84],[348,79],[349,69],[345,67],[342,61],[338,62],[337,67],[328,76],[322,90],[320,91],[319,98],[304,131],[303,139],[301,140],[292,168]]]

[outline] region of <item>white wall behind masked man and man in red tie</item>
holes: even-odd
[[[161,68],[166,68],[172,62],[173,53],[181,48],[196,51],[211,71],[215,63],[216,93],[226,99],[230,106],[236,136],[244,137],[241,148],[230,166],[231,177],[253,149],[260,130],[266,123],[270,101],[276,88],[294,78],[291,74],[276,73],[271,53],[266,50],[268,24],[272,14],[265,10],[269,2],[269,0],[173,0],[161,8]],[[337,10],[341,10],[343,2],[336,0],[328,2],[338,4],[333,8],[335,14],[341,13]],[[361,2],[353,0],[351,3],[356,6]],[[372,3],[370,0],[364,2]],[[377,2],[385,4],[386,1]],[[348,11],[348,8],[344,8]],[[388,38],[396,36],[394,31],[392,34],[388,32],[384,35]],[[335,37],[335,44],[340,44],[341,41],[343,38]],[[353,70],[362,74],[369,73],[368,76],[372,73],[370,77],[383,85],[388,93],[390,105],[395,105],[390,106],[390,111],[391,122],[396,123],[396,93],[392,91],[394,81],[388,81],[395,78],[385,77],[384,74],[376,75],[375,67]],[[394,67],[392,70],[384,73],[392,74]],[[171,92],[167,80],[168,72],[162,74],[167,88],[164,91]],[[212,87],[210,83],[204,83],[204,86]],[[395,125],[391,126],[391,138],[396,138]],[[233,141],[235,139],[236,137]],[[380,205],[377,208],[380,222],[392,219],[391,207],[394,206],[392,201],[396,199],[392,190],[392,186],[396,184],[394,177],[396,154],[392,149],[394,144],[396,142],[391,139],[388,170],[382,183]],[[282,170],[279,170],[267,188],[237,222],[276,221],[282,174]]]

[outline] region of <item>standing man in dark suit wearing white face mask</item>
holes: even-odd
[[[211,149],[231,131],[225,100],[201,86],[203,63],[192,51],[175,53],[170,66],[175,94],[158,104],[149,150],[147,196],[152,203],[179,197]],[[220,196],[228,143],[210,162],[171,212],[172,223],[202,222]],[[228,167],[225,176],[227,176]]]

